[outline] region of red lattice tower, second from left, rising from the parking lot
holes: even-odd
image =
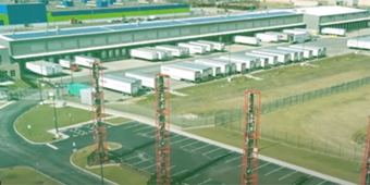
[[[169,85],[170,78],[168,75],[156,75],[156,185],[171,184]]]

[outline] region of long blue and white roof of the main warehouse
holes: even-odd
[[[168,27],[168,26],[182,26],[192,24],[206,24],[214,22],[229,22],[248,18],[260,18],[271,16],[284,16],[294,15],[296,12],[292,11],[264,11],[255,13],[234,14],[229,16],[207,16],[207,17],[193,17],[193,18],[181,18],[181,20],[169,20],[169,21],[156,21],[156,22],[144,22],[144,23],[131,23],[109,26],[90,26],[90,27],[78,27],[78,28],[65,28],[60,30],[38,30],[38,32],[24,32],[1,35],[7,40],[22,40],[22,39],[36,39],[58,36],[72,36],[72,35],[86,35],[97,34],[107,32],[122,32],[131,29],[143,29],[143,28],[155,28],[155,27]]]

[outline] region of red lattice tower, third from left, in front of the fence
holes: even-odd
[[[257,185],[261,94],[255,90],[245,92],[245,124],[243,138],[242,185]]]

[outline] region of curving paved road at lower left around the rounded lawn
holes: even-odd
[[[30,166],[66,185],[100,184],[99,178],[70,163],[71,152],[54,150],[46,145],[30,145],[14,132],[13,123],[16,118],[35,104],[37,101],[22,100],[0,110],[0,115],[7,118],[0,120],[0,168]]]

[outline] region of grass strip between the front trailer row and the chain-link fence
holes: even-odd
[[[187,97],[171,97],[171,109],[176,114],[210,113],[243,107],[246,89],[260,90],[262,101],[271,101],[304,91],[329,87],[368,76],[368,55],[347,54],[312,61],[320,67],[292,65],[254,74],[263,81],[235,77],[192,86],[176,91]],[[356,64],[354,64],[356,63]],[[152,107],[152,97],[136,101]]]

